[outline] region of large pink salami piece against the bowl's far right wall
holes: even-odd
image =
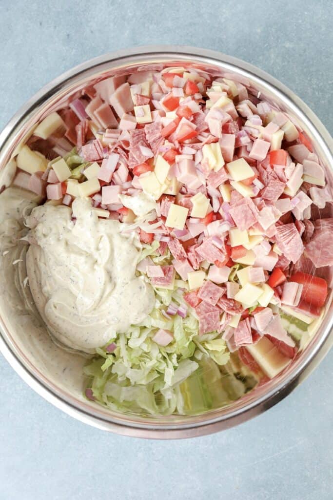
[[[315,221],[315,232],[306,245],[305,254],[311,258],[316,267],[333,265],[333,218],[318,219]]]

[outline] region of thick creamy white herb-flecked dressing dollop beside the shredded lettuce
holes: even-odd
[[[31,229],[29,287],[48,330],[63,344],[92,353],[152,310],[154,291],[135,275],[133,238],[121,234],[117,220],[98,219],[90,198],[75,199],[72,210],[37,206],[25,224]]]

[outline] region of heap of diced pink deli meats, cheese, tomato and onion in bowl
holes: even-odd
[[[70,210],[90,197],[94,216],[144,252],[136,274],[160,309],[147,323],[157,326],[145,323],[145,356],[152,340],[171,373],[204,342],[195,362],[205,352],[223,364],[240,348],[257,377],[287,366],[333,282],[333,191],[285,112],[243,77],[154,64],[83,89],[37,131],[13,184]],[[204,335],[195,341],[193,323],[170,326],[188,315]]]

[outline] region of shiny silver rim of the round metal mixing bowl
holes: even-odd
[[[73,78],[80,78],[83,74],[87,76],[89,73],[93,74],[94,70],[103,64],[110,64],[109,69],[111,69],[111,64],[116,66],[116,63],[122,60],[124,60],[124,65],[129,65],[130,63],[134,63],[136,59],[142,64],[152,62],[152,58],[179,61],[193,60],[193,62],[210,63],[216,66],[223,64],[223,67],[228,67],[230,71],[234,71],[245,77],[250,75],[254,82],[269,86],[271,90],[273,89],[280,97],[282,96],[284,100],[287,100],[291,109],[302,115],[302,119],[310,127],[312,133],[316,133],[317,140],[320,142],[322,149],[324,149],[325,155],[329,159],[329,164],[332,168],[333,157],[330,151],[330,149],[332,149],[332,137],[316,114],[292,90],[270,74],[241,59],[218,51],[185,45],[129,47],[89,59],[57,76],[41,87],[28,101],[26,101],[5,125],[0,133],[0,158],[1,151],[5,149],[6,142],[9,140],[14,130],[22,127],[24,122],[28,120],[29,115],[32,113],[35,114],[33,108],[47,102],[61,86],[65,86],[66,83],[73,80]],[[92,406],[84,402],[79,401],[75,404],[70,398],[61,395],[55,388],[52,389],[49,383],[46,384],[41,377],[38,376],[36,369],[33,370],[27,365],[19,355],[18,349],[14,343],[10,340],[2,318],[0,318],[0,351],[18,375],[39,395],[62,411],[65,411],[67,414],[85,423],[100,429],[135,437],[158,439],[186,438],[216,432],[237,425],[262,413],[286,397],[311,373],[311,371],[313,371],[330,350],[333,343],[332,327],[333,315],[330,317],[328,313],[321,326],[323,332],[320,339],[316,342],[316,345],[313,346],[309,356],[294,368],[288,380],[282,380],[276,387],[273,387],[258,399],[250,403],[245,403],[241,408],[233,410],[226,415],[211,419],[203,418],[203,420],[199,422],[181,425],[177,423],[172,424],[172,422],[168,425],[158,425],[158,421],[154,423],[131,422],[131,424],[127,424],[123,422],[121,418],[103,417],[101,412],[99,416],[96,416],[93,414]],[[204,417],[205,413],[200,416]]]

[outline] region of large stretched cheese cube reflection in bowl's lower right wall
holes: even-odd
[[[281,354],[273,342],[265,336],[255,344],[246,345],[245,348],[270,378],[275,377],[292,361],[289,357]]]

